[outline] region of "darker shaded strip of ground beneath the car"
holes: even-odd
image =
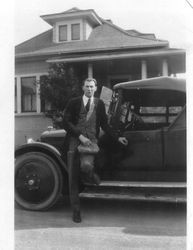
[[[68,200],[50,210],[26,211],[15,206],[15,230],[73,227],[121,227],[125,234],[185,236],[186,206],[158,202],[81,200],[82,223],[73,223]]]

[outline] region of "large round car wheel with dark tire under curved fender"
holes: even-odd
[[[39,152],[25,153],[16,159],[15,200],[27,210],[46,210],[62,191],[62,173],[58,164]]]

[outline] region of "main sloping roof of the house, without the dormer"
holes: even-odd
[[[102,25],[93,29],[88,40],[57,44],[52,41],[52,30],[48,30],[17,45],[16,57],[153,47],[168,47],[168,42],[131,35],[118,26],[103,20]]]

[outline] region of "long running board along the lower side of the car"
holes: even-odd
[[[85,185],[80,197],[186,202],[186,183],[102,181],[99,186]]]

